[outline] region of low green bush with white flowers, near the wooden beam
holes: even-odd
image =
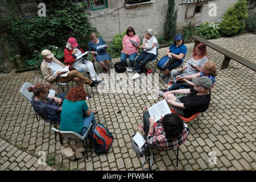
[[[201,23],[199,27],[196,28],[196,34],[205,39],[218,39],[220,38],[220,27],[219,23],[214,22],[204,22]]]

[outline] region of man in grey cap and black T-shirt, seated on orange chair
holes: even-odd
[[[174,107],[176,113],[185,118],[189,118],[197,112],[206,111],[210,104],[212,80],[203,76],[193,78],[192,81],[195,84],[193,88],[172,90],[163,94],[163,98]],[[175,97],[174,94],[188,94],[188,96]]]

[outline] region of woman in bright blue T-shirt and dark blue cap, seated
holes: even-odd
[[[166,55],[168,57],[171,57],[172,63],[169,65],[169,67],[166,70],[160,71],[163,73],[163,75],[161,76],[162,78],[167,77],[166,82],[170,81],[171,70],[183,63],[182,59],[185,57],[186,53],[187,53],[187,47],[184,44],[182,36],[176,35],[174,38],[174,43],[171,44],[171,46],[166,51]]]

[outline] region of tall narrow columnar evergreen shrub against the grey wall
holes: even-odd
[[[176,34],[177,10],[174,10],[174,7],[175,7],[174,0],[168,0],[166,22],[164,23],[164,38],[167,41],[172,40]]]

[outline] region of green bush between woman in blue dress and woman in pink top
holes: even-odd
[[[118,33],[113,36],[113,44],[109,46],[109,55],[113,58],[120,56],[123,49],[123,37],[126,35],[126,30],[122,34]]]

